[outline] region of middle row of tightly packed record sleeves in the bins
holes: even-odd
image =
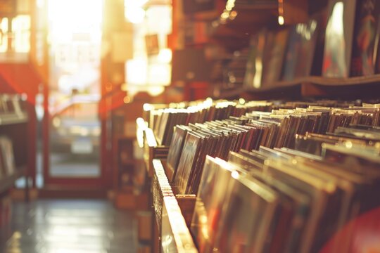
[[[363,129],[367,126],[369,129]],[[376,141],[378,108],[333,109],[313,107],[253,111],[241,117],[177,125],[167,156],[168,177],[181,194],[195,194],[205,156],[226,159],[229,151],[302,146],[310,135],[366,137]],[[355,128],[350,128],[355,127]],[[374,127],[372,129],[371,127]],[[296,138],[297,137],[297,138]],[[303,144],[305,148],[307,144]]]

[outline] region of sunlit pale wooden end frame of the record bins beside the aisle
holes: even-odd
[[[138,133],[144,133],[144,160],[148,176],[151,178],[152,206],[154,224],[158,235],[158,249],[162,252],[198,252],[189,231],[191,217],[196,202],[195,195],[177,195],[176,188],[167,180],[163,163],[169,147],[157,145],[153,131],[148,127],[141,129],[138,124]],[[160,159],[158,159],[160,158]]]

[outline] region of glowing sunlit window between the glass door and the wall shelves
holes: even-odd
[[[172,6],[151,1],[125,0],[125,18],[134,23],[134,59],[125,66],[125,83],[129,96],[146,91],[157,96],[171,81],[172,51],[167,47],[167,35],[172,33]],[[144,13],[139,11],[144,9]],[[160,20],[160,22],[157,22]],[[158,40],[153,46],[148,36]]]

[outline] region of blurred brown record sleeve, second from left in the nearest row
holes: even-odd
[[[250,176],[234,176],[232,180],[215,247],[225,252],[263,252],[279,196]]]

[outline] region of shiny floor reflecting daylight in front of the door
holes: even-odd
[[[0,252],[129,253],[137,251],[134,215],[107,200],[37,200],[13,203]]]

